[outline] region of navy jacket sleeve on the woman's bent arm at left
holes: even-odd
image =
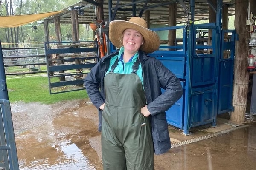
[[[87,94],[95,107],[99,110],[99,107],[105,102],[99,91],[99,85],[101,83],[100,76],[101,60],[91,69],[91,71],[84,78],[84,86]]]

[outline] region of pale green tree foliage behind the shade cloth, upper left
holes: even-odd
[[[43,12],[60,11],[80,0],[2,0],[0,15],[38,14]],[[10,21],[12,22],[12,21]],[[33,29],[37,26],[37,29]],[[72,39],[71,24],[61,24],[63,41]],[[55,26],[49,24],[50,41],[55,41]],[[81,41],[93,40],[93,31],[86,24],[79,24]],[[44,42],[44,25],[33,22],[17,28],[0,28],[2,43],[11,43],[8,47],[18,47],[18,44]]]

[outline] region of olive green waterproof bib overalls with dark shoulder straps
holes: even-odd
[[[150,118],[140,109],[146,99],[139,60],[131,74],[113,73],[118,59],[104,78],[106,102],[102,113],[102,160],[104,170],[153,170],[154,148]]]

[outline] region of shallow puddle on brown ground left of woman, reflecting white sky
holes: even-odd
[[[20,107],[13,114],[24,113],[29,107]],[[20,170],[99,170],[101,152],[96,141],[100,141],[100,133],[97,117],[91,116],[95,111],[93,105],[70,105],[61,111],[48,106],[37,114],[25,112],[20,116],[23,122],[15,119],[19,127],[15,129],[20,132],[15,136]]]

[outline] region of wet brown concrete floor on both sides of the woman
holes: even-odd
[[[20,170],[102,170],[98,113],[87,100],[11,104]],[[196,138],[170,128],[172,142]],[[254,170],[256,123],[172,148],[155,156],[155,170]]]

